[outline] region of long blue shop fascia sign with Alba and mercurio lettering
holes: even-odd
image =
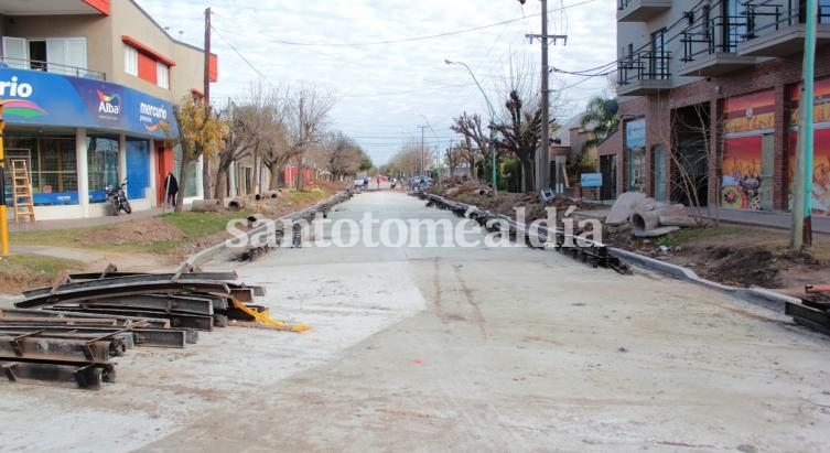
[[[7,125],[101,128],[164,138],[179,134],[170,101],[117,84],[42,71],[0,68]]]

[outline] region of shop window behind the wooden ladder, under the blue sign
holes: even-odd
[[[35,206],[78,203],[78,175],[74,137],[6,138],[7,166],[12,160],[24,160],[32,185]],[[11,172],[7,172],[6,192],[11,201]]]

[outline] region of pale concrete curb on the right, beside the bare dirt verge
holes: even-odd
[[[784,309],[787,302],[800,303],[801,301],[791,298],[789,295],[778,294],[774,291],[769,291],[763,288],[737,288],[730,287],[727,284],[721,284],[711,280],[707,280],[697,274],[691,269],[687,269],[670,262],[664,262],[654,258],[649,258],[632,251],[608,247],[611,255],[625,260],[634,266],[640,268],[650,269],[657,272],[665,273],[673,277],[678,280],[685,280],[691,283],[699,284],[725,294],[729,294],[735,299],[748,302],[753,305],[758,305],[767,310],[772,310],[776,313],[785,314]]]

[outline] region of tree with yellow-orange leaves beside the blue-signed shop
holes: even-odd
[[[219,152],[224,143],[223,136],[227,133],[227,123],[213,115],[211,107],[203,100],[194,100],[185,96],[181,104],[173,106],[179,123],[179,137],[175,139],[182,147],[182,168],[179,184],[184,192],[187,187],[188,166],[204,157],[208,160]],[[207,162],[205,162],[205,165]],[[184,206],[184,196],[176,199],[175,211],[179,213]]]

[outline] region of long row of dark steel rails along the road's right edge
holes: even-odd
[[[449,209],[460,217],[467,217],[477,222],[481,226],[492,230],[499,230],[511,237],[524,236],[528,246],[533,246],[531,238],[536,238],[539,245],[549,244],[562,254],[573,259],[590,263],[593,267],[614,269],[621,273],[627,273],[628,268],[608,252],[608,248],[601,242],[575,237],[550,226],[538,228],[519,224],[513,218],[479,209],[465,203],[453,202],[435,194],[420,193],[419,198],[427,199],[428,206]]]

